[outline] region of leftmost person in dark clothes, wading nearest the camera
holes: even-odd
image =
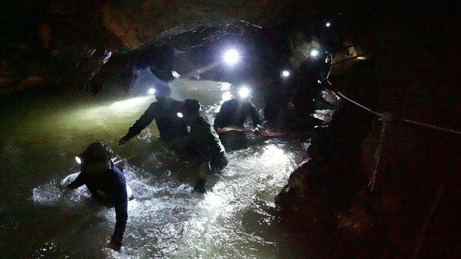
[[[126,180],[122,171],[113,165],[110,146],[102,142],[94,142],[79,156],[81,173],[67,188],[75,189],[87,185],[91,195],[107,202],[116,210],[116,226],[108,244],[113,250],[120,250],[126,220],[128,219],[128,195]]]

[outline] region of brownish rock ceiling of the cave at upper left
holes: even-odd
[[[245,20],[272,26],[293,18],[294,10],[309,16],[312,6],[311,1],[274,0],[3,1],[0,94],[37,82],[62,83],[78,74],[72,69],[88,50],[116,54],[184,23]]]

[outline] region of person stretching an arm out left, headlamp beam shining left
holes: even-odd
[[[151,103],[144,114],[130,127],[125,137],[118,142],[123,145],[128,140],[139,134],[150,122],[155,119],[155,124],[160,132],[160,139],[171,142],[187,134],[186,122],[178,117],[184,102],[170,98],[170,86],[157,84],[155,86],[155,98],[157,102]]]

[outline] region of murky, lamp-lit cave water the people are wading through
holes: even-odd
[[[211,115],[230,87],[210,81],[186,83],[175,83],[176,98],[198,98]],[[272,227],[276,218],[270,209],[309,143],[261,139],[234,151],[223,173],[210,177],[210,191],[196,195],[191,192],[196,177],[191,166],[162,146],[155,125],[126,146],[116,145],[155,98],[135,100],[130,108],[113,107],[114,100],[48,101],[52,108],[27,109],[28,116],[13,123],[16,136],[5,134],[0,149],[1,156],[16,157],[0,161],[1,168],[11,169],[2,172],[4,183],[11,186],[2,199],[13,202],[4,202],[0,210],[0,230],[6,233],[1,248],[16,248],[7,257],[289,258],[284,256],[287,251],[279,251],[284,234]],[[8,129],[2,126],[0,133]],[[91,199],[84,187],[69,191],[60,183],[78,171],[75,154],[95,139],[111,143],[116,154],[129,158],[120,167],[135,200],[128,203],[119,253],[104,248],[115,224],[113,209]],[[4,222],[18,223],[13,227]]]

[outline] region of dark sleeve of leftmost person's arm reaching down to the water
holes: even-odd
[[[112,240],[117,243],[121,243],[123,233],[125,232],[126,220],[128,219],[128,195],[126,194],[126,180],[123,173],[121,173],[121,171],[117,168],[114,168],[113,170],[116,171],[116,183],[114,183],[116,226],[113,231]]]

